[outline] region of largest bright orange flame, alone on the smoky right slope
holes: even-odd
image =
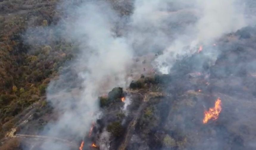
[[[203,123],[206,124],[210,119],[216,120],[221,112],[221,99],[218,98],[215,101],[215,106],[213,108],[209,108],[209,111],[205,111],[205,118],[203,119]]]

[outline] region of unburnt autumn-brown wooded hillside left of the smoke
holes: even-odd
[[[34,47],[22,37],[28,27],[43,29],[56,23],[55,4],[56,1],[12,0],[0,3],[1,137],[16,124],[16,115],[44,96],[50,78],[57,76],[61,64],[72,57],[65,49],[58,49],[67,45],[64,42]]]

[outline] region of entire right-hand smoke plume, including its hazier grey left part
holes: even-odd
[[[193,54],[195,51],[191,49],[199,44],[209,44],[245,26],[242,4],[237,0],[136,1],[132,25],[135,33],[140,34],[132,34],[132,38],[138,37],[135,43],[147,44],[147,49],[164,49],[155,65],[160,72],[168,74],[175,60]],[[181,27],[171,27],[172,24]]]

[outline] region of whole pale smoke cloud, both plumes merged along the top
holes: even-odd
[[[87,135],[96,118],[92,114],[99,111],[98,96],[116,86],[127,87],[133,57],[160,52],[152,65],[168,74],[177,60],[196,53],[199,45],[213,44],[247,24],[243,8],[238,9],[242,1],[135,0],[131,4],[132,14],[121,16],[106,1],[84,1],[73,9],[67,7],[65,13],[74,16],[73,22],[63,20],[62,25],[50,27],[65,26],[64,35],[79,41],[80,52],[48,87],[47,100],[60,117],[43,134],[70,133],[78,139]],[[117,26],[124,30],[120,35],[115,32]],[[214,62],[218,51],[208,51],[205,57]],[[63,83],[72,71],[78,74],[79,88]],[[52,142],[41,147],[68,149]]]

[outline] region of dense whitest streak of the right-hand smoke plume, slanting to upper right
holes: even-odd
[[[179,3],[181,5],[188,4],[187,1]],[[213,44],[222,35],[234,32],[246,25],[241,1],[196,0],[190,1],[190,3],[189,7],[194,9],[194,13],[188,13],[195,15],[196,19],[192,24],[185,26],[184,33],[177,35],[171,44],[166,45],[164,54],[156,60],[160,66],[160,71],[164,74],[169,72],[175,60],[179,59],[180,56],[193,54],[195,50],[191,49],[198,48],[202,44]],[[185,10],[187,9],[185,8]],[[187,18],[179,17],[179,19]],[[185,46],[188,47],[185,48]],[[218,51],[213,51],[213,53],[218,53]],[[213,59],[215,60],[216,57]]]

